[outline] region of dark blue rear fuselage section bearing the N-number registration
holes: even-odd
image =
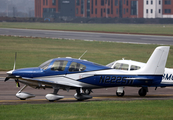
[[[136,79],[127,79],[136,78]],[[141,78],[141,79],[137,79]],[[157,86],[162,80],[162,75],[95,75],[80,79],[80,82],[101,87],[115,86]]]

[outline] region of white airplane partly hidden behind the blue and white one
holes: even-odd
[[[122,60],[117,60],[114,62],[111,62],[107,64],[107,67],[121,70],[121,71],[136,71],[141,68],[143,68],[146,65],[146,63],[133,61],[133,60],[125,60],[124,58]],[[162,76],[162,81],[159,85],[155,86],[155,90],[157,87],[165,88],[167,86],[173,86],[173,69],[165,68],[164,74]],[[142,87],[139,89],[138,94],[140,96],[146,96],[148,92],[148,87]],[[118,87],[116,91],[116,95],[119,97],[124,96],[124,87]]]

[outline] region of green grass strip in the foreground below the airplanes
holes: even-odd
[[[1,120],[166,120],[173,100],[90,101],[78,103],[0,105]]]

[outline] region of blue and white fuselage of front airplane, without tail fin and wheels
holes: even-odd
[[[64,70],[53,70],[53,64],[57,61],[67,62]],[[86,67],[85,70],[69,71],[70,65],[77,63]],[[98,88],[116,86],[156,86],[161,82],[162,75],[129,74],[126,71],[115,70],[106,66],[73,58],[55,58],[47,64],[46,69],[41,67],[23,68],[13,71],[12,75],[22,76],[19,81],[27,83],[28,79],[39,82],[68,84],[71,87]],[[59,66],[58,66],[59,67]],[[75,66],[75,69],[77,67]],[[24,81],[26,79],[26,81]],[[34,81],[35,80],[35,81]],[[31,81],[29,81],[31,82]],[[35,84],[36,86],[38,84]]]

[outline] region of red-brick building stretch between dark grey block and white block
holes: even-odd
[[[76,0],[77,17],[141,18],[142,0]]]

